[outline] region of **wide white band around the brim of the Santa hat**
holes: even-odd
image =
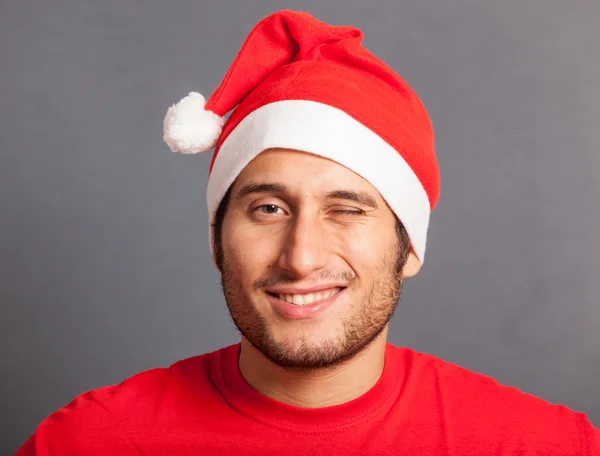
[[[276,147],[329,158],[369,181],[402,221],[423,262],[431,206],[416,174],[372,130],[344,111],[314,101],[284,100],[262,106],[231,132],[208,180],[211,225],[221,199],[244,167],[262,151]]]

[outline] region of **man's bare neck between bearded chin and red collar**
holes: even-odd
[[[349,402],[371,389],[381,377],[387,328],[366,349],[331,369],[283,369],[242,337],[239,368],[259,393],[298,407],[316,408]]]

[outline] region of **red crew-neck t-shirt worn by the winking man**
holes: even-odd
[[[252,389],[240,345],[78,396],[16,453],[50,455],[600,455],[586,415],[388,345],[378,383],[333,407]]]

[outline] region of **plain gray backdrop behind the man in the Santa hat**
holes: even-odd
[[[207,243],[209,95],[280,9],[365,31],[433,119],[442,195],[390,340],[600,425],[600,2],[0,4],[0,452],[75,395],[238,341]]]

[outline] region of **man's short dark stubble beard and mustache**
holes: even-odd
[[[399,252],[398,247],[386,250]],[[274,364],[289,370],[312,370],[331,368],[356,356],[379,336],[391,320],[402,290],[402,264],[400,254],[389,253],[381,261],[381,268],[374,274],[376,280],[363,291],[360,302],[351,305],[348,317],[342,321],[342,334],[329,338],[315,347],[306,337],[293,342],[277,341],[269,330],[263,315],[253,306],[239,278],[228,267],[224,256],[221,268],[221,285],[227,309],[238,331],[259,352]],[[353,273],[334,273],[323,270],[316,274],[320,280],[342,280],[349,287],[356,282]],[[257,279],[254,289],[292,283],[297,279],[289,276],[268,276]]]

